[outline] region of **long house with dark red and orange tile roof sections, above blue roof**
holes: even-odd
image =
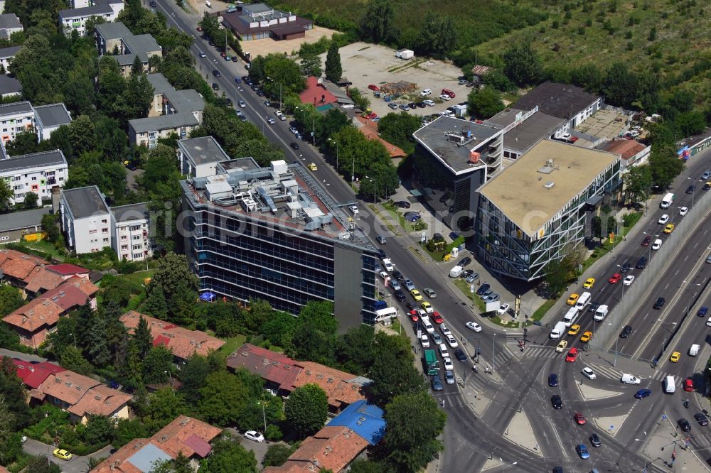
[[[271,350],[244,344],[227,359],[232,369],[243,367],[267,381],[266,388],[288,395],[305,384],[318,384],[328,396],[328,407],[333,413],[365,399],[363,386],[370,380],[313,361],[296,361]]]

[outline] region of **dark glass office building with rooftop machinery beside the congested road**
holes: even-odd
[[[181,187],[178,231],[204,290],[294,315],[325,300],[341,330],[373,323],[375,248],[301,165],[235,159]]]

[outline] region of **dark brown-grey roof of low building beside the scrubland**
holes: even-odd
[[[562,119],[570,119],[586,109],[599,97],[585,92],[580,87],[546,81],[518,99],[514,107],[539,111]]]

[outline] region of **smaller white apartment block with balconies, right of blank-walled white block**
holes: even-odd
[[[111,209],[111,247],[119,259],[142,261],[153,254],[149,240],[148,202]]]

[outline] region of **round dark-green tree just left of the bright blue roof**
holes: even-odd
[[[299,438],[313,435],[324,427],[328,417],[328,396],[318,384],[299,386],[289,394],[284,415]]]

